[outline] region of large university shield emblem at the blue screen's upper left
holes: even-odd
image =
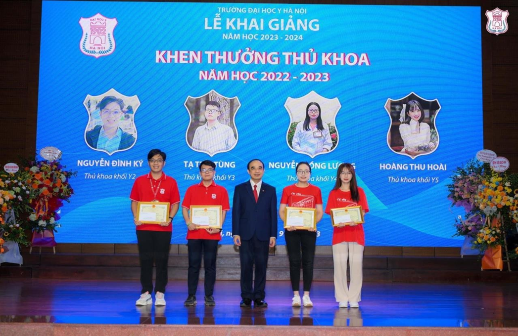
[[[79,20],[83,35],[79,41],[79,50],[85,55],[108,56],[115,50],[115,38],[113,30],[117,25],[117,19],[109,19],[100,13],[91,18],[81,18]]]

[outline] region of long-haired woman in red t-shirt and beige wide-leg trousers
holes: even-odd
[[[331,209],[362,206],[364,214],[369,211],[367,198],[356,183],[354,167],[349,163],[338,166],[336,184],[329,193],[325,213]],[[358,308],[362,300],[363,249],[365,235],[363,225],[354,222],[335,223],[333,231],[333,262],[335,266],[335,298],[340,308]],[[351,283],[347,287],[347,259],[351,269]]]

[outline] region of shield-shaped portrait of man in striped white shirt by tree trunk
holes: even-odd
[[[189,147],[210,156],[232,150],[238,139],[234,118],[240,106],[237,97],[227,98],[215,91],[189,96],[185,100],[191,118],[185,133]]]

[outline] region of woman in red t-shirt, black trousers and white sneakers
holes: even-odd
[[[320,222],[324,214],[322,208],[322,192],[320,188],[309,184],[311,167],[307,162],[299,162],[295,168],[297,183],[289,185],[282,190],[279,216],[284,221],[286,207],[316,209],[316,223]],[[292,306],[300,307],[300,252],[302,251],[302,267],[304,276],[304,296],[302,304],[312,307],[313,302],[309,298],[309,290],[313,281],[313,260],[315,257],[316,229],[297,230],[295,227],[287,227],[284,232],[286,249],[290,259],[290,279],[293,289]]]

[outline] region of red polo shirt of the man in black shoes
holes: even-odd
[[[228,193],[224,187],[214,181],[208,187],[203,185],[203,182],[191,185],[185,192],[182,207],[190,209],[191,206],[221,206],[222,211],[228,211],[230,210]],[[205,229],[187,230],[187,239],[221,240],[221,234],[211,235]]]

